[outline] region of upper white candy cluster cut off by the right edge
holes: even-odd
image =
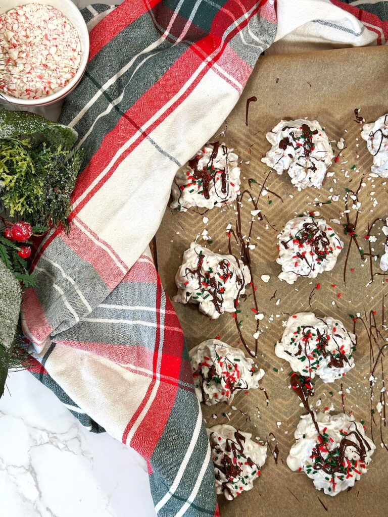
[[[370,124],[364,124],[361,137],[373,156],[371,171],[388,178],[388,113]]]

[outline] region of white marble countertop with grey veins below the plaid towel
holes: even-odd
[[[9,374],[0,437],[1,517],[155,517],[143,458],[86,431],[26,371]]]

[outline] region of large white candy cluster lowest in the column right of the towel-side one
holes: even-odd
[[[367,472],[376,447],[365,435],[363,425],[352,416],[318,413],[315,418],[320,436],[311,415],[303,415],[287,465],[306,473],[317,490],[334,496],[354,486]]]

